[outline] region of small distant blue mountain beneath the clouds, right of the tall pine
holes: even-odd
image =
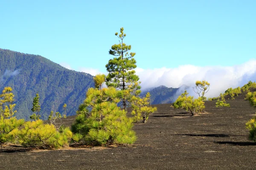
[[[166,104],[175,102],[177,96],[176,93],[179,88],[168,88],[164,85],[161,85],[157,88],[153,88],[149,91],[144,91],[141,96],[145,96],[147,92],[150,93],[151,104]]]

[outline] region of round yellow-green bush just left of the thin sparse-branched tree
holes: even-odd
[[[186,91],[181,94],[174,102],[174,108],[183,108],[192,113],[192,116],[204,111],[204,101],[201,97],[198,99],[193,99],[193,96],[187,95],[188,93]]]

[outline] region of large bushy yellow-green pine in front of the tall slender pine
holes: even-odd
[[[97,88],[90,88],[79,106],[72,131],[80,135],[76,134],[73,140],[94,145],[132,144],[136,141],[135,132],[131,130],[132,119],[117,106],[122,91],[114,87],[102,88],[105,75],[96,75],[94,79]]]

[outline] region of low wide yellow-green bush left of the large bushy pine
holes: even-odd
[[[19,143],[23,146],[48,149],[69,146],[71,138],[69,128],[58,132],[54,125],[44,124],[40,119],[25,122],[18,135]]]

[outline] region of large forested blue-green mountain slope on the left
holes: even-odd
[[[38,92],[42,119],[50,111],[76,114],[88,88],[94,86],[93,76],[71,71],[39,55],[24,54],[0,48],[0,91],[10,86],[15,94],[16,117],[29,119],[32,101]]]

